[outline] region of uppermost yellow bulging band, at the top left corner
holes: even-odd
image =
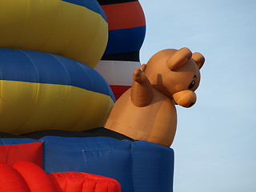
[[[85,6],[61,0],[0,2],[0,47],[38,50],[96,66],[108,25]]]

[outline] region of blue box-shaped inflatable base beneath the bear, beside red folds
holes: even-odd
[[[82,171],[115,178],[122,192],[171,192],[174,151],[151,142],[46,136],[46,172]]]

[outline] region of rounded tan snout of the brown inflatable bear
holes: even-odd
[[[182,90],[173,94],[174,101],[179,106],[191,107],[197,101],[197,96],[192,90]]]

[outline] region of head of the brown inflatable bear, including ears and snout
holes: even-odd
[[[176,104],[190,107],[196,102],[194,91],[204,62],[202,54],[192,54],[186,47],[161,50],[147,62],[145,74],[154,89],[173,98]]]

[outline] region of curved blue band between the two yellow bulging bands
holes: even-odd
[[[115,101],[101,74],[70,58],[33,50],[0,48],[0,63],[0,80],[77,86],[109,95]]]

